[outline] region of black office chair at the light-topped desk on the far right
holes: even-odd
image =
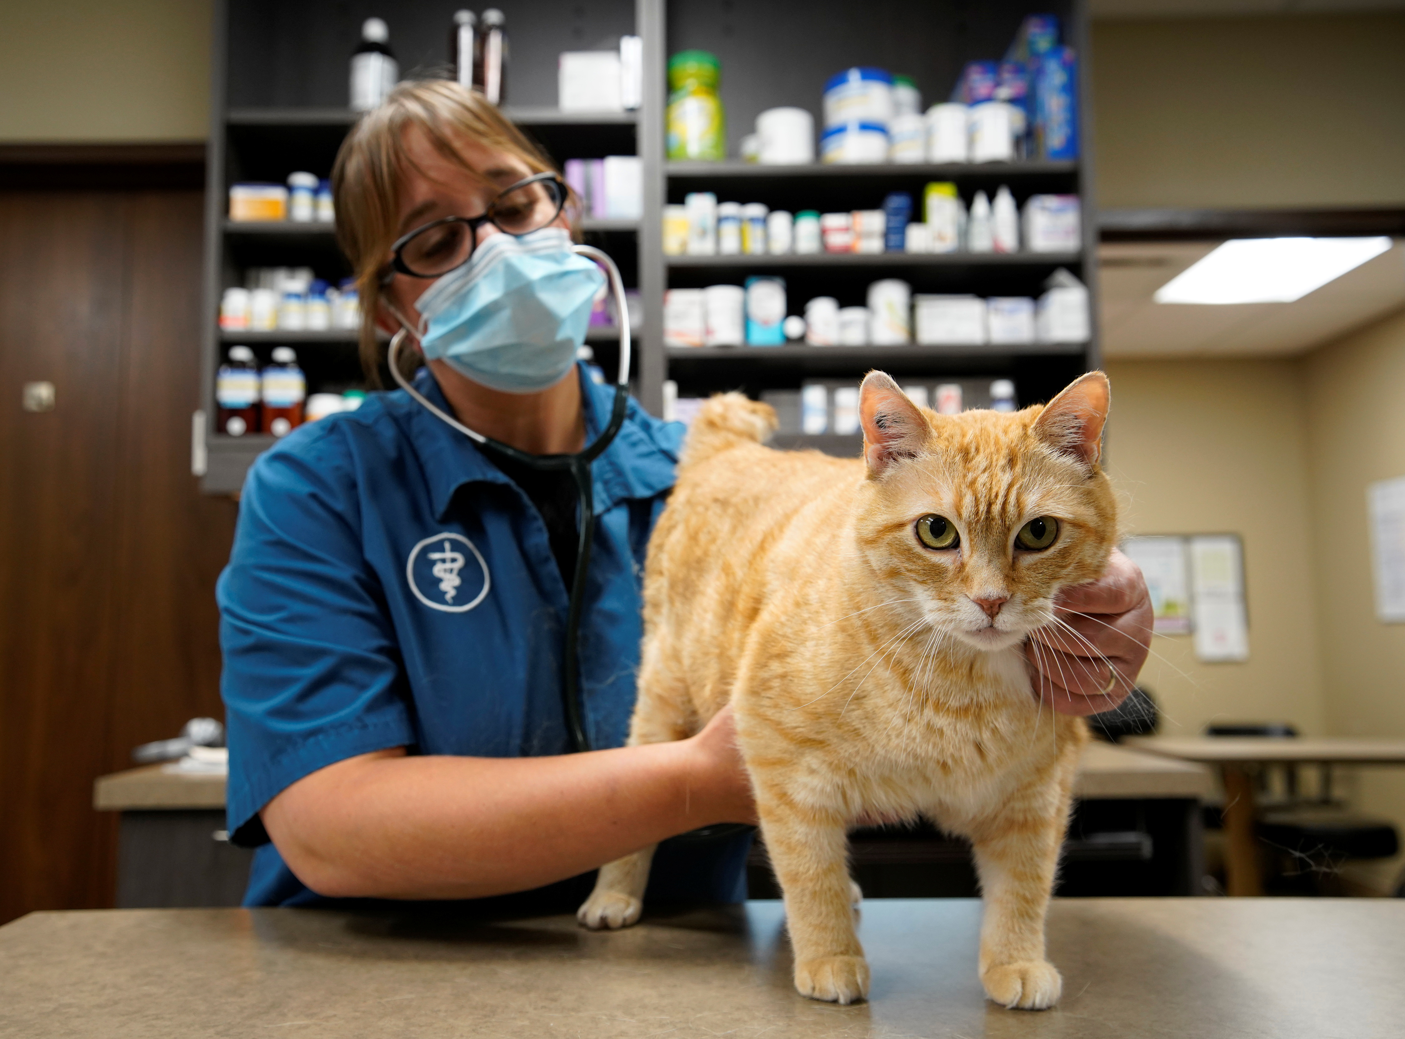
[[[1297,734],[1287,722],[1224,722],[1205,727],[1205,736],[1295,739]],[[1267,769],[1259,772],[1257,786],[1267,789]],[[1218,816],[1217,809],[1213,812]],[[1336,799],[1328,764],[1319,765],[1315,798],[1298,792],[1297,765],[1286,765],[1284,793],[1279,803],[1260,810],[1256,828],[1259,840],[1274,851],[1276,872],[1290,887],[1302,887],[1307,880],[1321,892],[1322,880],[1333,876],[1346,859],[1390,858],[1399,851],[1394,824],[1347,812]]]

